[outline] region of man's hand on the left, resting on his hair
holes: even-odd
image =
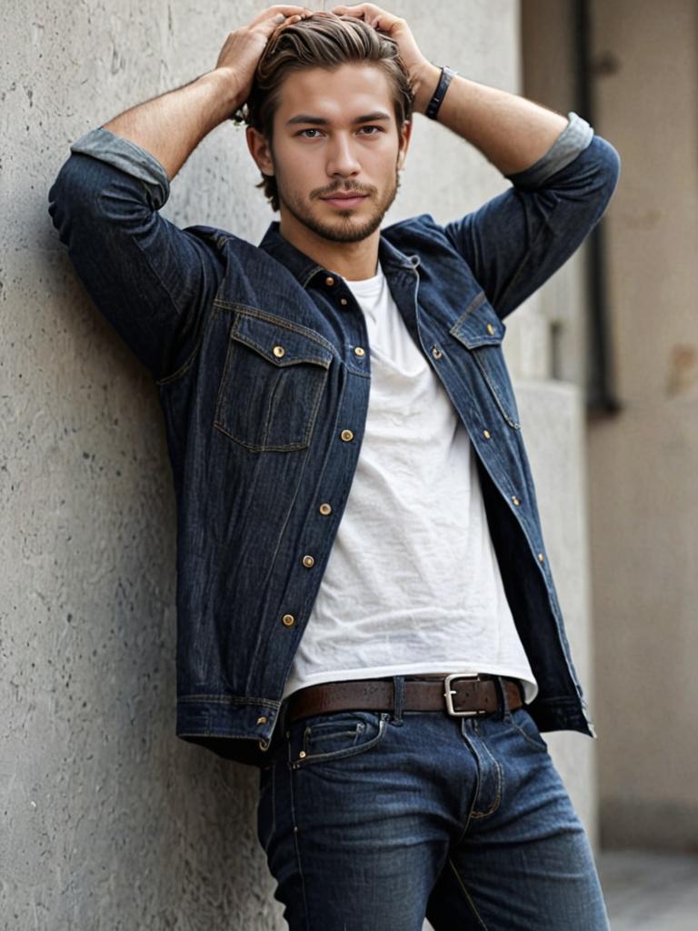
[[[281,25],[298,22],[312,12],[308,7],[276,5],[263,10],[247,26],[241,26],[228,36],[216,70],[227,74],[234,82],[235,100],[238,101],[235,109],[247,101],[255,69],[275,30]]]

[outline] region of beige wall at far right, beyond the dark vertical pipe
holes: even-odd
[[[590,433],[604,843],[698,848],[698,7],[595,2],[620,414]]]

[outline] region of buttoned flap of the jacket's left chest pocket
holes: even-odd
[[[329,369],[332,350],[321,337],[289,327],[285,320],[239,314],[230,331],[230,338],[254,349],[267,361],[284,368],[311,362]]]

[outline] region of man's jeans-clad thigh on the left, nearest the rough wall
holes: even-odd
[[[424,767],[457,725],[423,723],[335,712],[288,729],[258,833],[291,931],[421,931],[460,816],[443,810],[448,777],[430,787]]]

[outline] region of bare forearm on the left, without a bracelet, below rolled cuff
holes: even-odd
[[[216,69],[132,107],[104,128],[154,155],[172,179],[199,142],[235,112],[237,97],[235,79]]]

